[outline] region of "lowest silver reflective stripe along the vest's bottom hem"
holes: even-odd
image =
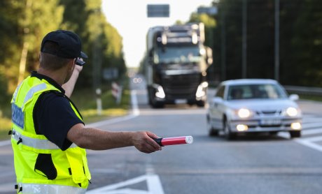
[[[54,184],[18,184],[18,191],[22,188],[22,193],[41,193],[41,194],[83,194],[86,188],[74,186],[62,186]]]

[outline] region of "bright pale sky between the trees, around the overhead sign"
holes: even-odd
[[[102,0],[106,20],[123,37],[127,67],[138,67],[146,50],[149,27],[172,25],[176,20],[187,22],[199,6],[210,6],[213,0]],[[169,17],[147,17],[148,4],[169,4]]]

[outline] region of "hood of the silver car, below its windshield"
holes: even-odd
[[[250,110],[283,110],[287,107],[298,107],[297,103],[288,99],[230,100],[228,106],[236,110],[242,107]]]

